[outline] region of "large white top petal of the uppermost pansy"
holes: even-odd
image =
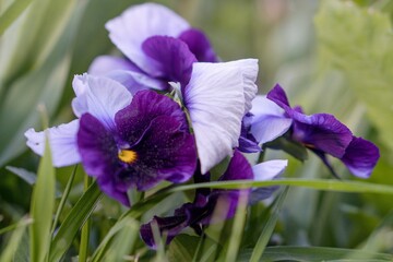
[[[144,3],[126,10],[106,23],[111,41],[138,67],[155,75],[157,67],[142,51],[142,43],[154,35],[177,37],[190,25],[174,11],[157,3]],[[156,75],[155,75],[156,76]]]

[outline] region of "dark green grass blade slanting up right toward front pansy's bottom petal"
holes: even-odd
[[[62,255],[64,255],[75,238],[78,230],[91,216],[102,196],[102,191],[97,183],[94,182],[72,207],[61,224],[51,243],[49,261],[59,261]]]

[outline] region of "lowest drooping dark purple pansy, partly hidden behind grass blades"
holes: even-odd
[[[271,160],[251,167],[245,156],[235,151],[226,171],[218,180],[270,180],[281,175],[286,165],[287,160]],[[194,181],[209,182],[210,175],[195,174]],[[172,216],[154,216],[150,223],[141,226],[141,237],[151,248],[156,248],[152,228],[154,226],[157,226],[162,235],[166,235],[167,245],[186,227],[193,228],[200,235],[204,226],[231,218],[240,195],[243,194],[250,199],[250,203],[254,203],[269,198],[275,189],[276,187],[243,190],[196,189],[193,203],[183,204]]]

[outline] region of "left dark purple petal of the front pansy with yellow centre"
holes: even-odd
[[[129,206],[127,190],[120,191],[116,187],[123,181],[119,176],[122,166],[117,158],[118,147],[112,133],[90,114],[84,114],[80,122],[78,146],[86,174],[97,178],[106,194]]]

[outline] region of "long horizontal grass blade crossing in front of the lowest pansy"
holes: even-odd
[[[271,186],[293,186],[293,187],[302,187],[314,190],[336,191],[336,192],[346,192],[346,193],[393,194],[393,186],[384,186],[384,184],[358,182],[358,181],[338,181],[333,179],[276,179],[270,181],[236,180],[236,181],[204,182],[204,183],[179,186],[176,188],[168,189],[166,193],[194,190],[199,188],[240,189],[240,188],[263,188]]]

